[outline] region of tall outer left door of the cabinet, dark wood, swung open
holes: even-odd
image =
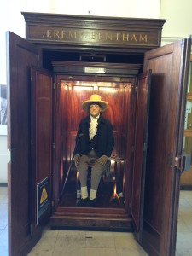
[[[8,82],[8,234],[9,256],[26,255],[40,234],[31,233],[30,69],[40,50],[7,32]]]

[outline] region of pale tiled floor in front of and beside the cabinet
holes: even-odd
[[[7,188],[0,187],[0,255],[8,255]],[[44,229],[28,256],[147,256],[131,233]],[[181,191],[177,256],[192,256],[192,191]]]

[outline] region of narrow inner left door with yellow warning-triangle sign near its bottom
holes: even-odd
[[[51,211],[52,78],[49,71],[32,66],[32,235],[38,234]]]

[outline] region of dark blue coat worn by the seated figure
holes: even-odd
[[[90,115],[82,119],[79,124],[74,154],[87,154],[92,148],[94,148],[98,157],[102,156],[103,154],[110,157],[114,147],[114,137],[113,127],[109,120],[102,117],[102,114],[100,113],[97,132],[92,140],[90,140],[89,128]],[[83,134],[83,136],[79,137],[80,134]]]

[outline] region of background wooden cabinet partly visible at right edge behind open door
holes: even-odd
[[[192,55],[190,57],[189,67],[189,84],[187,91],[187,104],[184,124],[183,150],[185,154],[189,154],[192,159]],[[190,170],[183,172],[181,175],[181,189],[192,189],[192,162]]]

